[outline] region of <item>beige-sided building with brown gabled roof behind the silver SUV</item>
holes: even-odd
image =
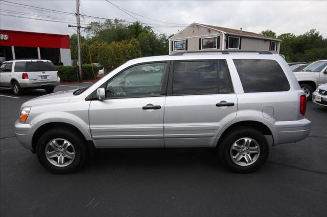
[[[169,54],[185,51],[260,50],[279,53],[281,40],[257,33],[192,23],[169,38]]]

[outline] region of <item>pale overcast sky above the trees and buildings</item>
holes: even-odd
[[[76,1],[12,1],[66,12],[76,12]],[[155,30],[167,35],[182,30],[183,25],[192,22],[218,25],[226,28],[260,33],[270,29],[277,35],[282,33],[303,34],[311,29],[318,30],[327,38],[327,1],[110,1],[130,12],[135,18],[149,23]],[[11,5],[11,6],[10,6]],[[31,32],[73,34],[75,31],[67,24],[76,24],[74,15],[45,12],[25,6],[14,6],[1,1],[0,29]],[[83,1],[80,13],[104,18],[120,18],[126,21],[136,19],[115,8],[106,1]],[[129,13],[129,12],[128,12]],[[4,16],[9,14],[10,16]],[[13,16],[56,20],[65,23],[32,20]],[[35,16],[36,15],[36,16]],[[44,17],[47,16],[47,17]],[[158,21],[150,20],[155,19]],[[101,19],[81,18],[82,23],[103,21]],[[67,22],[67,23],[66,23]],[[182,25],[176,26],[180,23]]]

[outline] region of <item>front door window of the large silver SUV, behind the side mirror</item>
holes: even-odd
[[[160,95],[167,63],[133,66],[110,80],[106,97],[142,97]]]

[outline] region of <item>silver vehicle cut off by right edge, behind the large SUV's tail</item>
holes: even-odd
[[[294,72],[294,74],[308,100],[311,100],[313,91],[319,85],[327,83],[327,60],[313,62],[302,71]]]

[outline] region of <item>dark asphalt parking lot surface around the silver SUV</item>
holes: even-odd
[[[266,164],[250,174],[223,168],[212,149],[115,149],[97,153],[78,173],[54,175],[14,137],[20,105],[44,94],[34,90],[17,98],[0,90],[1,216],[327,213],[327,107],[309,102],[309,137],[271,147]]]

